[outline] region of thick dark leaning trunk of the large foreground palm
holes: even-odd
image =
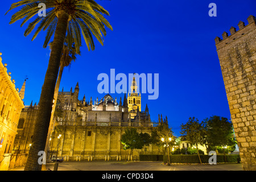
[[[24,168],[25,171],[42,170],[42,164],[39,164],[38,162],[38,152],[44,151],[46,147],[54,90],[59,72],[61,53],[69,18],[69,15],[65,13],[64,10],[60,10],[58,13],[58,22],[53,39],[52,52],[49,58],[46,76],[44,78],[44,84],[39,101],[38,117],[36,118],[34,137],[32,138],[32,146],[28,154],[26,167]]]

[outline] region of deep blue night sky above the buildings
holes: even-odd
[[[16,1],[1,2],[0,52],[16,88],[20,89],[28,77],[24,104],[30,105],[31,101],[39,102],[50,51],[43,48],[46,32],[40,32],[32,42],[32,34],[23,35],[28,23],[23,27],[21,20],[9,24],[16,10],[5,13]],[[189,117],[199,121],[212,115],[230,119],[214,38],[221,38],[224,31],[229,33],[232,26],[238,30],[240,20],[247,24],[248,16],[255,16],[255,0],[96,2],[109,11],[106,18],[113,31],[107,30],[104,46],[94,39],[94,51],[88,51],[83,44],[81,56],[70,68],[64,68],[60,90],[74,89],[79,82],[79,99],[85,94],[86,100],[92,96],[94,102],[105,95],[97,91],[100,73],[109,77],[110,69],[127,77],[134,72],[159,73],[159,97],[148,100],[148,94],[142,94],[142,110],[147,103],[151,119],[167,115],[176,136],[180,135],[181,123]],[[216,17],[208,15],[212,2],[217,5]],[[124,96],[111,95],[118,102]]]

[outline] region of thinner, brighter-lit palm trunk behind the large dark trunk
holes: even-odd
[[[57,82],[56,82],[56,86],[55,86],[55,90],[54,90],[54,96],[53,96],[55,102],[52,106],[52,114],[51,114],[51,120],[49,123],[48,135],[47,135],[47,140],[46,140],[46,148],[44,149],[44,151],[46,152],[46,157],[48,156],[47,153],[48,153],[48,148],[49,148],[49,138],[51,137],[51,131],[53,131],[54,126],[55,126],[55,123],[53,123],[53,115],[54,115],[54,111],[55,111],[55,107],[56,107],[57,97],[59,94],[60,80],[62,77],[63,69],[64,69],[64,65],[60,64],[60,71],[59,71],[59,75],[57,78]],[[44,165],[44,164],[43,164],[42,171],[43,171],[43,169],[46,170],[46,165]]]

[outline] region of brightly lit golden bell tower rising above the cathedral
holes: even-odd
[[[139,108],[139,111],[141,111],[141,93],[138,93],[137,89],[138,89],[138,86],[135,80],[135,73],[134,73],[133,81],[131,82],[131,93],[128,93],[128,96],[127,96],[129,112],[133,110],[137,112],[138,108]]]

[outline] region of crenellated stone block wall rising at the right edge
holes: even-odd
[[[216,48],[244,170],[256,170],[256,23],[239,22],[216,37]]]

